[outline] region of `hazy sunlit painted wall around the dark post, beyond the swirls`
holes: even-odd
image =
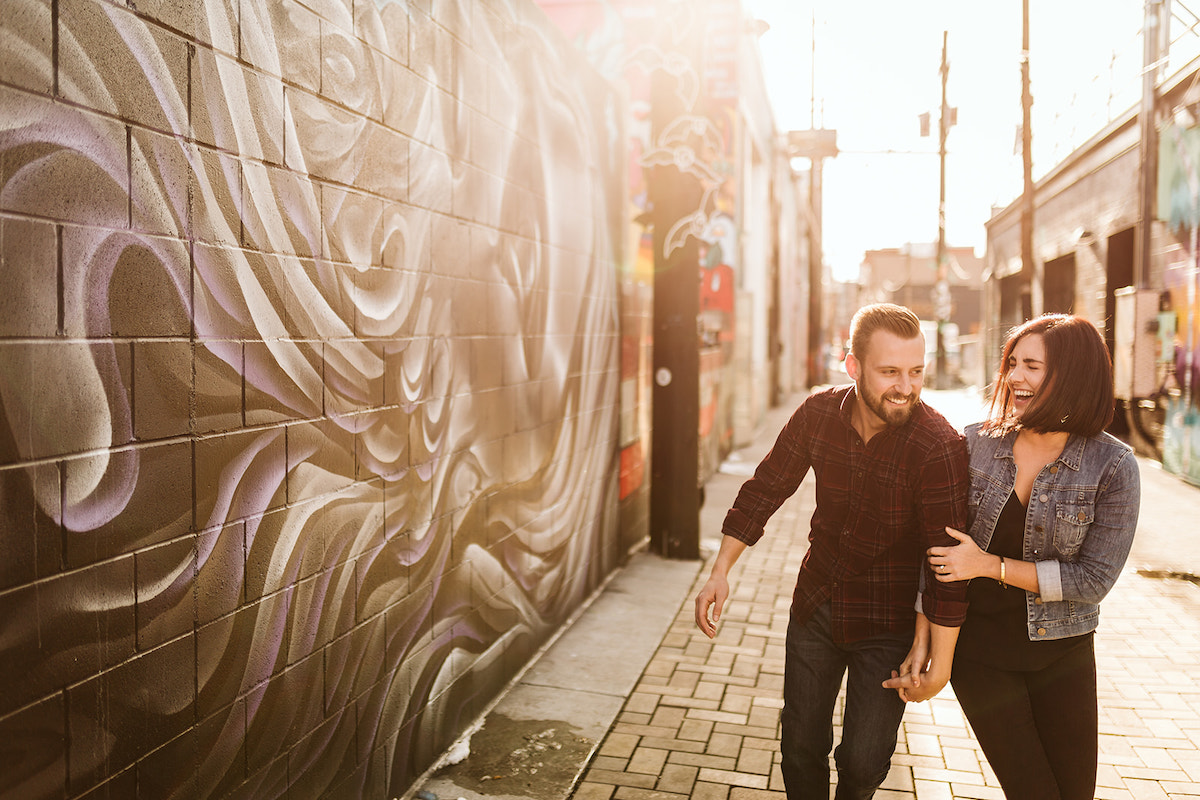
[[[733,279],[738,266],[738,58],[743,10],[738,0],[538,0],[592,64],[628,95],[628,225],[636,255],[624,272],[626,353],[622,403],[622,498],[640,487],[648,456],[650,320],[655,264],[688,239],[701,251],[698,347],[700,475],[703,483],[733,444]],[[652,76],[674,79],[685,114],[652,126]],[[667,224],[654,252],[649,175],[674,167],[703,187],[694,210]],[[721,276],[727,285],[716,288]],[[728,300],[728,302],[724,302]]]

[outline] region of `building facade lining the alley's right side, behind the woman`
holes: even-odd
[[[1196,148],[1200,62],[1157,91],[1157,185],[1138,258],[1144,156],[1138,109],[1116,118],[1034,187],[1033,264],[1022,273],[1018,199],[988,222],[985,350],[1028,315],[1075,313],[1096,323],[1114,356],[1112,432],[1200,482],[1196,415]]]

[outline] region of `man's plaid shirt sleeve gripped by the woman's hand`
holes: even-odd
[[[966,439],[958,437],[930,453],[922,469],[918,516],[925,549],[953,547],[956,542],[946,533],[947,528],[967,529],[967,487],[971,482],[967,464]],[[967,614],[966,581],[942,583],[934,576],[929,559],[923,558],[919,585],[918,612],[935,625],[962,625]]]

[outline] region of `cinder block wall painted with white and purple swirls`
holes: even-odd
[[[0,796],[396,796],[618,564],[616,103],[521,0],[0,0]]]

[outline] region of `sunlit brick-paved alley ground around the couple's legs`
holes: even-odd
[[[691,597],[683,603],[575,800],[785,796],[784,637],[812,501],[806,482],[742,557],[715,640],[696,630]],[[1104,602],[1097,658],[1097,798],[1200,796],[1200,588],[1127,572]],[[949,687],[908,706],[876,798],[1003,799]]]

